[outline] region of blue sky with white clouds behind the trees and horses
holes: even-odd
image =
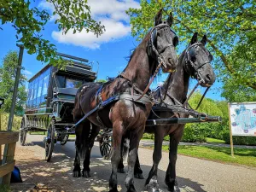
[[[73,34],[73,30],[63,35],[54,24],[56,16],[53,16],[45,26],[43,37],[48,39],[51,44],[55,44],[57,51],[88,59],[93,64],[93,70],[98,72],[97,79],[106,79],[106,77],[115,77],[122,72],[127,65],[127,57],[131,55],[131,50],[135,49],[139,42],[131,36],[130,18],[125,14],[128,8],[139,8],[138,0],[88,0],[91,9],[91,16],[96,20],[101,20],[106,28],[106,32],[99,38],[89,32],[80,32]],[[33,6],[38,9],[53,10],[51,4],[44,0],[35,1]],[[19,50],[16,47],[15,29],[10,25],[1,26],[0,30],[0,59],[3,61],[4,55],[9,50]],[[181,52],[184,46],[178,45],[178,51]],[[25,70],[27,79],[44,67],[45,63],[37,61],[37,55],[29,55],[24,51],[22,66]],[[96,61],[99,65],[96,64]],[[152,88],[163,82],[167,74],[163,74],[154,81]],[[190,88],[196,84],[196,80],[191,80]],[[207,97],[214,100],[224,100],[220,96],[219,88],[221,84],[216,81],[208,91]],[[204,88],[200,88],[201,92]]]

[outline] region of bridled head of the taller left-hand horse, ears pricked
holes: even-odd
[[[151,30],[148,41],[148,55],[162,63],[163,72],[173,72],[177,67],[177,53],[175,47],[178,38],[171,26],[172,13],[167,20],[162,20],[162,9],[155,16],[154,28]]]

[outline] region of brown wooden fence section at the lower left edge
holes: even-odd
[[[0,156],[0,184],[9,185],[11,172],[15,167],[15,147],[19,140],[19,132],[0,131],[0,146],[8,145],[6,155]],[[2,163],[4,162],[4,163]]]

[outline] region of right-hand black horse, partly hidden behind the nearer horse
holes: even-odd
[[[164,102],[169,105],[184,103],[187,99],[189,89],[189,79],[193,77],[203,87],[211,86],[215,81],[210,62],[212,55],[205,48],[207,44],[207,36],[197,42],[197,32],[195,32],[189,47],[185,49],[178,59],[177,71],[169,74],[166,82],[156,91],[154,91],[154,99],[158,102]],[[148,119],[158,119],[173,117],[174,113],[167,111],[155,111],[150,113]],[[179,114],[181,118],[189,117],[188,114]],[[145,185],[148,191],[159,191],[157,183],[157,170],[162,155],[162,143],[164,137],[169,135],[169,166],[166,171],[166,185],[170,191],[179,191],[176,180],[176,160],[177,160],[177,145],[183,136],[184,125],[157,125],[154,127],[146,127],[145,132],[154,133],[154,165],[148,174]],[[123,172],[123,162],[119,163],[119,170]],[[135,177],[143,178],[143,171],[137,157],[135,165]]]

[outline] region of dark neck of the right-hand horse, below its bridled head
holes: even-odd
[[[163,84],[164,89],[166,90],[168,84],[168,92],[174,96],[177,101],[184,102],[187,98],[189,90],[189,74],[186,73],[184,69],[184,55],[182,54],[178,59],[177,70],[174,73],[169,74],[171,78],[168,77],[166,82]],[[168,81],[170,81],[168,83]]]

